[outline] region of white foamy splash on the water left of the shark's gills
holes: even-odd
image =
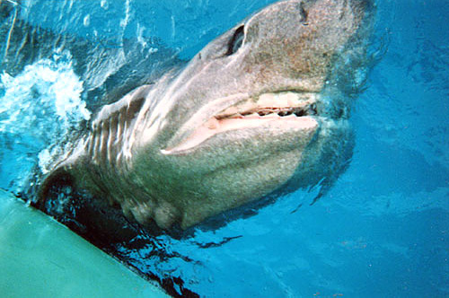
[[[45,148],[91,117],[82,100],[83,82],[74,72],[68,51],[56,51],[52,58],[25,66],[15,76],[0,74],[0,89],[0,136],[4,136],[0,140],[20,138],[21,155],[35,156],[37,161],[39,154],[40,166],[49,159]],[[4,141],[0,146],[8,150]],[[15,161],[0,162],[11,167]],[[31,167],[18,165],[28,171]]]

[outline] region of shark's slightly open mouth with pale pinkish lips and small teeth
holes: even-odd
[[[186,137],[180,144],[163,150],[164,154],[192,149],[212,136],[232,130],[262,126],[279,129],[307,130],[317,127],[314,92],[263,93],[257,99],[247,99],[221,110]]]

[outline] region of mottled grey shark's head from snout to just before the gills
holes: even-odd
[[[147,173],[141,186],[160,202],[150,217],[186,228],[289,180],[296,188],[321,180],[316,169],[331,162],[323,148],[336,137],[348,144],[344,113],[325,102],[326,81],[364,13],[360,1],[272,4],[156,85],[136,119],[132,153],[136,172]],[[348,108],[334,96],[341,107],[332,110]]]

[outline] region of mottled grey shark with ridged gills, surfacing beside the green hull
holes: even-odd
[[[288,181],[290,191],[328,178],[351,143],[338,76],[352,78],[347,57],[364,56],[365,11],[362,0],[290,0],[252,15],[182,70],[104,106],[40,199],[68,174],[128,218],[186,229]],[[302,111],[276,115],[292,109]],[[271,117],[246,115],[263,110]]]

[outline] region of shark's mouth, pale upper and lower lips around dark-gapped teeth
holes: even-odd
[[[163,149],[162,153],[189,154],[213,145],[216,139],[226,146],[248,142],[251,138],[258,145],[271,143],[275,139],[279,143],[283,137],[285,143],[291,142],[295,136],[310,139],[319,127],[317,96],[315,92],[267,92],[256,99],[239,101],[218,110],[212,117],[203,115],[201,125],[190,129],[187,136],[176,145]],[[287,147],[291,145],[286,144]]]

